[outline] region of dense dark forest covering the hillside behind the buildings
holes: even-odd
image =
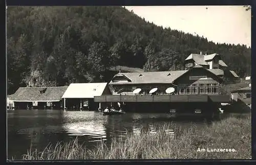
[[[218,35],[218,34],[216,34]],[[222,55],[251,73],[251,49],[163,28],[123,7],[8,7],[8,94],[18,87],[103,82],[111,66],[184,69],[191,53]]]

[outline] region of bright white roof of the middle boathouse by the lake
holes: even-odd
[[[94,98],[101,96],[107,83],[72,83],[62,98]]]

